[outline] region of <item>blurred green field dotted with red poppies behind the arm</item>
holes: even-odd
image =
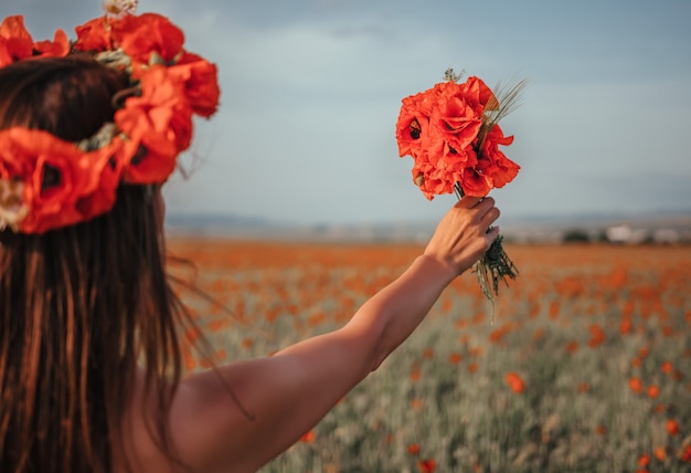
[[[491,307],[471,273],[262,472],[691,471],[691,248],[504,245]],[[184,240],[172,254],[214,362],[344,324],[415,244]],[[181,270],[182,271],[182,270]],[[183,336],[185,368],[209,366]]]

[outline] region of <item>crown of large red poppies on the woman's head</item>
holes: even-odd
[[[40,129],[0,130],[0,230],[43,233],[108,212],[121,183],[162,183],[192,139],[192,116],[210,117],[220,90],[216,66],[183,49],[184,34],[156,13],[113,11],[34,42],[23,17],[0,24],[0,69],[18,61],[91,53],[124,71],[127,98],[113,122],[79,143]],[[114,103],[118,97],[114,97]]]

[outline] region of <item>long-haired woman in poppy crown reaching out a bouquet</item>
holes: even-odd
[[[164,272],[160,186],[192,113],[215,109],[215,69],[170,46],[178,31],[158,15],[94,20],[74,44],[56,34],[30,49],[20,23],[0,27],[2,472],[255,471],[375,370],[497,238],[493,200],[464,198],[342,328],[181,379],[190,320]],[[164,41],[132,40],[152,25]]]

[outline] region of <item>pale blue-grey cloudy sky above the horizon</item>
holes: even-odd
[[[501,122],[518,177],[502,218],[691,212],[688,0],[141,0],[219,66],[221,106],[199,120],[164,188],[169,214],[290,224],[439,218],[400,158],[401,99],[444,72],[527,78]],[[34,40],[99,15],[97,0],[2,0]],[[500,218],[501,223],[501,218]]]

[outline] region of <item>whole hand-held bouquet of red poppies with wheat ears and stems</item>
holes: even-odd
[[[413,157],[413,181],[429,200],[451,192],[459,199],[485,197],[513,180],[520,169],[499,149],[513,141],[499,120],[518,105],[527,82],[499,84],[492,92],[478,77],[463,83],[461,77],[447,70],[444,82],[404,98],[398,115],[398,155]],[[501,241],[500,235],[475,267],[492,303],[499,283],[518,275]]]

